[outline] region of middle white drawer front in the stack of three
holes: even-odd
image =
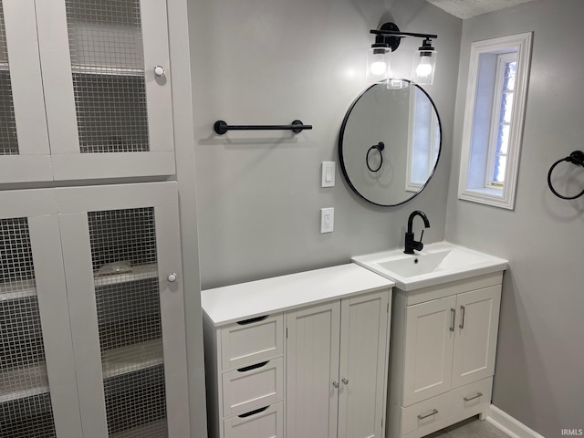
[[[223,374],[225,417],[284,399],[284,360],[259,362]]]

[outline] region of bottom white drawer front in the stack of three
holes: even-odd
[[[284,403],[268,406],[224,421],[225,438],[283,438]]]

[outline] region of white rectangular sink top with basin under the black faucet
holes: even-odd
[[[414,255],[395,249],[351,260],[393,280],[396,287],[406,291],[503,271],[508,265],[502,258],[448,242],[426,245]]]

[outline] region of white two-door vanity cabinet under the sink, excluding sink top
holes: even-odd
[[[488,412],[502,276],[395,289],[391,438],[419,438]]]

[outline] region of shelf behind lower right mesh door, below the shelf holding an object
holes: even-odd
[[[150,340],[121,349],[110,349],[101,355],[103,378],[120,376],[164,363],[162,339]]]

